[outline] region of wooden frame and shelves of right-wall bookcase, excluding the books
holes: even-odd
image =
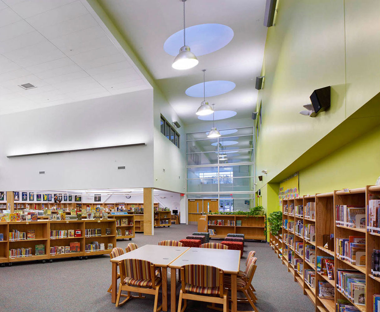
[[[375,277],[371,273],[372,267],[372,251],[373,249],[380,249],[380,234],[369,232],[368,228],[368,206],[369,195],[380,196],[380,186],[367,186],[366,188],[359,189],[345,189],[341,191],[328,192],[324,194],[308,195],[298,197],[295,199],[284,199],[282,201],[282,219],[283,226],[277,236],[270,236],[270,244],[275,253],[282,260],[282,263],[287,266],[288,271],[293,275],[294,281],[299,284],[304,295],[315,304],[315,310],[320,312],[335,312],[336,303],[339,299],[350,301],[361,312],[372,312],[373,310],[373,296],[380,293],[380,277]],[[315,202],[315,219],[307,217],[305,214],[305,207],[307,203]],[[291,206],[294,207],[302,205],[303,215],[292,213]],[[361,227],[347,227],[336,223],[336,207],[337,205],[347,206],[363,206],[366,209],[366,228]],[[296,211],[296,210],[295,210]],[[303,235],[298,235],[296,231],[290,230],[288,225],[291,221],[302,221],[303,225],[315,224],[315,241]],[[326,238],[324,241],[323,235],[334,234],[334,246],[326,248]],[[294,235],[291,244],[289,240],[284,238],[288,235]],[[358,266],[348,262],[339,257],[337,254],[337,238],[348,238],[348,236],[365,236],[366,237],[366,266]],[[296,243],[303,243],[303,250],[297,252]],[[353,269],[366,276],[366,292],[365,292],[365,305],[353,303],[353,300],[348,298],[337,287],[337,274],[335,273],[334,279],[331,280],[328,276],[318,273],[316,263],[310,263],[306,260],[305,251],[306,245],[311,244],[315,246],[315,255],[327,256],[334,258],[334,266],[336,269]],[[331,250],[332,249],[332,250]],[[294,258],[303,260],[303,271],[298,272],[292,263],[289,262],[289,252],[294,253]],[[312,270],[315,273],[315,288],[305,280],[305,270]],[[318,281],[327,281],[334,288],[334,300],[324,299],[318,296]]]

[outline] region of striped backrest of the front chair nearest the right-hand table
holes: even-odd
[[[223,270],[209,265],[188,264],[181,267],[181,280],[199,287],[223,288]]]

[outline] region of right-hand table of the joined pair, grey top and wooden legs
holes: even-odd
[[[240,269],[240,251],[191,247],[169,264],[171,269],[171,312],[176,312],[176,270],[187,264],[216,266],[231,274],[231,312],[237,310],[236,277]],[[174,278],[173,278],[174,277]]]

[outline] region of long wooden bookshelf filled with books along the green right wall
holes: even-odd
[[[316,311],[375,311],[380,186],[283,199],[282,216],[270,244]]]

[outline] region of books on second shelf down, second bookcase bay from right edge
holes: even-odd
[[[366,266],[366,236],[336,239],[337,257],[354,265]]]

